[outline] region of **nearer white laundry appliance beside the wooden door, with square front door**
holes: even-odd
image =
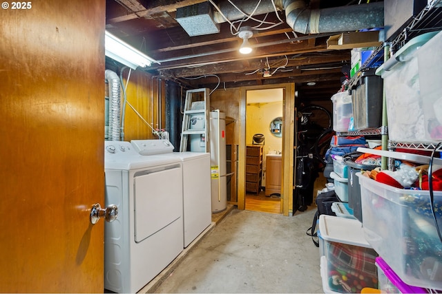
[[[104,288],[136,293],[183,249],[182,162],[141,156],[129,142],[105,141]],[[171,185],[174,183],[174,185]]]

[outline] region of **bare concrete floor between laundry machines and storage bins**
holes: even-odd
[[[305,233],[315,212],[314,205],[295,216],[229,207],[140,292],[323,293],[319,249]]]

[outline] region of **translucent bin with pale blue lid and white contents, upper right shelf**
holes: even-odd
[[[425,118],[423,101],[420,94],[422,77],[419,76],[418,52],[423,44],[434,36],[436,32],[421,34],[408,41],[392,58],[376,70],[383,78],[387,101],[388,136],[393,141],[410,143],[434,143],[427,138],[425,132]],[[432,48],[434,52],[438,48]],[[432,58],[434,52],[428,56]],[[439,67],[434,63],[431,68]]]

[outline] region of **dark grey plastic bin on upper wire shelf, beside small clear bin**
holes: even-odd
[[[382,125],[383,80],[375,72],[374,68],[361,72],[358,87],[352,89],[354,131]]]

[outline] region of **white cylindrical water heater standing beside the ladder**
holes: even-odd
[[[191,138],[191,151],[202,152],[205,145],[199,136]],[[227,208],[226,114],[210,112],[210,158],[212,212]]]

